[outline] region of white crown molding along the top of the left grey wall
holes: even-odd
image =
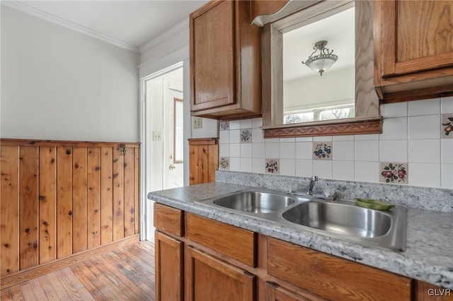
[[[102,33],[98,33],[96,30],[92,30],[90,28],[86,28],[82,25],[73,23],[69,20],[64,18],[60,18],[58,16],[52,15],[52,13],[47,13],[45,11],[41,11],[38,8],[34,8],[32,6],[28,6],[27,4],[23,4],[19,1],[1,1],[1,5],[7,6],[9,8],[16,9],[17,11],[21,11],[23,13],[27,13],[28,15],[35,16],[42,20],[46,20],[51,23],[55,23],[57,25],[63,26],[65,28],[69,28],[71,30],[75,30],[79,33],[83,33],[84,35],[88,35],[90,37],[94,37],[98,40],[103,42],[107,42],[111,45],[115,45],[117,47],[121,47],[123,49],[130,50],[132,52],[139,53],[139,47],[134,45],[127,44],[120,40],[116,40],[113,37],[109,37],[108,35],[103,35]]]

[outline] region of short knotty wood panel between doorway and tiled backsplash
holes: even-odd
[[[219,167],[219,144],[217,138],[189,139],[190,185],[215,181]]]

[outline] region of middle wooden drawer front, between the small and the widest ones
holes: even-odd
[[[185,236],[243,264],[256,266],[254,232],[186,212]]]

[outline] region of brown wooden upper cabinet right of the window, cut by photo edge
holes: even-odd
[[[374,2],[381,102],[453,95],[453,1]]]

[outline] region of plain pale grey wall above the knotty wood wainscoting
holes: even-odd
[[[139,54],[1,6],[1,137],[139,141]]]

